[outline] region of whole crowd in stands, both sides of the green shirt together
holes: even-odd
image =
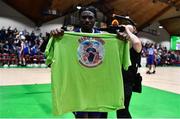
[[[42,36],[33,31],[19,31],[17,28],[0,29],[0,67],[29,66],[45,63],[44,50],[49,33]],[[143,43],[142,57],[147,57],[148,48],[153,46],[156,66],[180,65],[180,51],[170,51],[160,44]]]

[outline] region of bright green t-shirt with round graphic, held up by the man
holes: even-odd
[[[115,34],[65,32],[49,40],[45,53],[55,115],[124,108],[121,69],[131,64],[128,42]]]

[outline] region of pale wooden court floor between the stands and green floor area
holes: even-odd
[[[144,86],[180,94],[180,67],[157,67],[155,74],[139,69]],[[49,68],[0,68],[0,86],[50,83]]]

